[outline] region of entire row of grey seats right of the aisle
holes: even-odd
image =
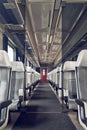
[[[66,107],[78,110],[78,120],[87,130],[87,50],[81,50],[77,61],[66,61],[50,72],[48,79],[59,88]]]

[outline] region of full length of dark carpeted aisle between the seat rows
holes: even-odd
[[[48,83],[40,84],[12,130],[76,130]]]

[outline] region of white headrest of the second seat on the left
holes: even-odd
[[[12,71],[24,72],[24,65],[21,61],[11,62]]]

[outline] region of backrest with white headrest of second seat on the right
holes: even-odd
[[[67,61],[63,67],[63,88],[70,99],[77,97],[75,80],[75,61]]]

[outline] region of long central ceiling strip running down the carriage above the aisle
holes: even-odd
[[[28,10],[33,26],[33,35],[39,52],[40,62],[46,62],[47,35],[50,35],[54,0],[30,1],[28,0]],[[51,59],[52,60],[52,59]]]

